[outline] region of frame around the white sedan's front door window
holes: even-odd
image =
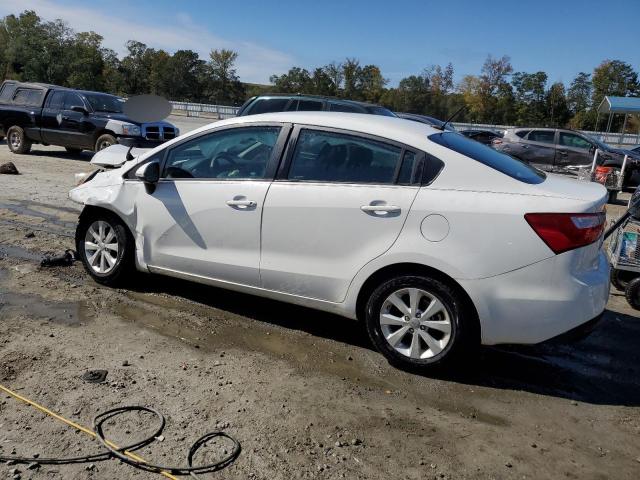
[[[265,176],[263,178],[166,178],[162,177],[164,174],[164,170],[167,164],[167,157],[169,156],[169,152],[175,148],[178,148],[180,145],[183,145],[192,140],[196,140],[198,138],[204,137],[206,135],[210,135],[213,133],[225,132],[228,130],[234,130],[237,128],[251,128],[251,127],[276,127],[280,128],[280,132],[278,134],[278,139],[276,140],[276,144],[271,152],[271,158],[269,158],[267,162],[267,168],[265,171]],[[289,138],[289,134],[291,132],[291,124],[290,123],[279,123],[279,122],[248,122],[248,123],[238,123],[234,125],[225,125],[218,128],[212,128],[211,130],[207,130],[204,132],[200,132],[197,135],[189,136],[180,140],[179,142],[172,143],[167,146],[160,152],[157,152],[141,162],[136,163],[129,170],[122,174],[123,179],[128,181],[140,181],[135,178],[135,173],[133,174],[133,178],[129,178],[129,172],[132,170],[136,170],[140,168],[142,165],[147,163],[150,160],[158,160],[160,163],[160,180],[158,183],[174,183],[174,182],[270,182],[273,181],[275,177],[275,173],[277,171],[278,165],[282,158],[282,152],[286,145],[287,139]]]

